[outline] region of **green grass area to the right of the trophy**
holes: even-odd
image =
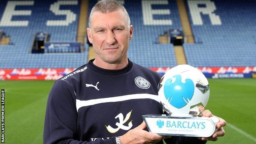
[[[225,137],[214,143],[256,144],[256,79],[210,79],[209,83],[210,100],[206,109],[228,123]],[[254,140],[246,137],[247,134]]]

